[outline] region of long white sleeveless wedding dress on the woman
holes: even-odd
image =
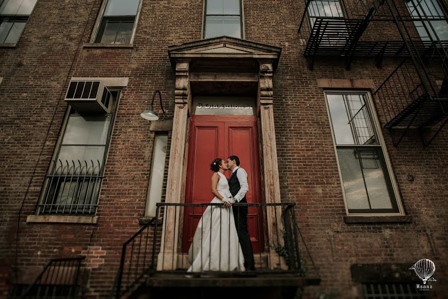
[[[217,191],[224,198],[232,194],[224,174],[220,175]],[[216,196],[211,203],[222,203]],[[233,218],[232,207],[207,206],[196,228],[188,251],[187,272],[245,271],[244,256]]]

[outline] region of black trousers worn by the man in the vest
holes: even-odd
[[[244,267],[246,270],[255,270],[254,253],[252,251],[251,237],[247,227],[247,206],[233,206],[233,218],[244,255]]]

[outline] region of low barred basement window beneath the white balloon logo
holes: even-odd
[[[362,284],[364,299],[427,299],[428,293],[416,290],[416,285],[409,283]]]

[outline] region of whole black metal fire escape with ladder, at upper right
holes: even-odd
[[[431,144],[448,120],[448,18],[438,0],[306,0],[299,25],[303,56],[398,58],[398,66],[373,92],[383,128],[398,146],[409,129]],[[397,133],[392,129],[398,129]]]

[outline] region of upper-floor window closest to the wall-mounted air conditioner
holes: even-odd
[[[140,0],[106,0],[96,43],[131,43]]]

